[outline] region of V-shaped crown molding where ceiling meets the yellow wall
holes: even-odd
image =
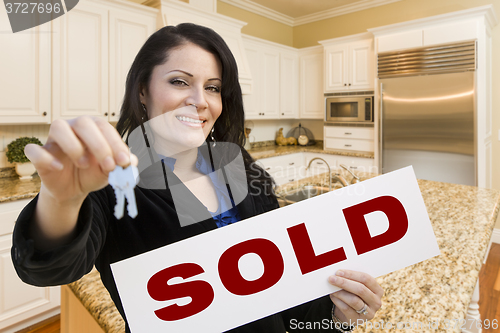
[[[282,14],[268,7],[262,6],[252,0],[220,0],[232,6],[245,9],[249,12],[267,17],[268,19],[286,24],[291,27],[328,19],[335,16],[345,15],[367,8],[386,5],[401,0],[362,0],[352,5],[345,5],[337,8],[324,10],[318,13],[304,15],[297,18]]]

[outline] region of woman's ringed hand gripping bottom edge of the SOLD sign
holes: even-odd
[[[356,325],[358,319],[373,319],[382,306],[384,290],[375,279],[362,272],[339,270],[328,281],[342,290],[330,294],[335,304],[335,316],[345,323]],[[366,305],[366,315],[358,313]],[[361,311],[360,311],[361,312]]]

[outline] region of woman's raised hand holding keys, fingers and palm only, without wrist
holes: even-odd
[[[83,200],[108,184],[108,173],[117,164],[131,162],[128,147],[116,129],[91,117],[55,120],[47,143],[42,147],[27,145],[25,154],[42,180],[41,192],[59,202]]]

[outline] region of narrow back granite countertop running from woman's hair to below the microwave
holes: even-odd
[[[256,160],[267,157],[288,155],[294,153],[318,153],[318,154],[331,154],[331,155],[342,155],[351,157],[364,157],[364,158],[374,158],[373,153],[369,152],[356,152],[348,150],[325,150],[323,148],[323,142],[318,142],[312,146],[264,146],[258,148],[252,148],[248,150],[250,155]]]

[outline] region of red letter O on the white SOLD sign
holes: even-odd
[[[257,254],[264,264],[264,273],[253,281],[245,280],[238,261],[247,253]],[[274,286],[283,275],[285,264],[278,247],[263,238],[250,239],[231,246],[219,259],[219,276],[226,289],[240,296],[251,295]]]

